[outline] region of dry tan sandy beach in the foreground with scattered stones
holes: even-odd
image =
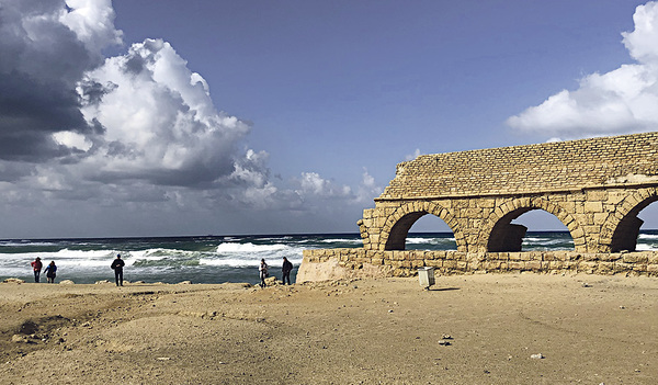
[[[0,382],[656,384],[657,299],[657,279],[597,275],[4,283]]]

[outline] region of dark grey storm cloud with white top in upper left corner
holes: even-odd
[[[81,22],[81,13],[93,15]],[[76,92],[102,64],[100,49],[121,41],[110,0],[0,1],[0,159],[45,161],[77,150],[54,139],[93,132]]]

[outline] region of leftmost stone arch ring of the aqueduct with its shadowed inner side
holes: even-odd
[[[386,223],[382,228],[379,245],[384,245],[384,250],[405,250],[409,229],[420,217],[427,214],[443,219],[455,236],[457,251],[466,251],[465,237],[454,215],[445,207],[432,202],[409,202],[400,205],[386,218]]]

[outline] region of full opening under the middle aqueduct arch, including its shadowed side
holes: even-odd
[[[529,227],[530,226],[530,230]],[[554,214],[537,207],[520,207],[494,226],[487,251],[571,250],[574,239]]]

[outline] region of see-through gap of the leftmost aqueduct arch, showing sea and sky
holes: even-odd
[[[423,215],[407,235],[406,250],[457,250],[455,235],[436,215]]]

